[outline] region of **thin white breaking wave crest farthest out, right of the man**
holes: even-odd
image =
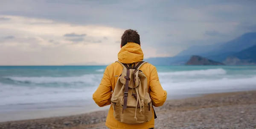
[[[195,75],[224,75],[227,74],[227,71],[218,68],[218,69],[207,69],[207,70],[190,70],[190,71],[177,71],[177,72],[160,72],[158,73],[160,76],[195,76]]]

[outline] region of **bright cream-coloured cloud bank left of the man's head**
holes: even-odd
[[[63,65],[81,62],[81,59],[111,63],[119,51],[119,45],[113,42],[119,40],[124,31],[103,25],[72,25],[55,21],[45,24],[38,21],[50,20],[4,17],[10,17],[10,20],[0,24],[1,65]]]

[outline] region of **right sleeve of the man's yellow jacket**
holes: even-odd
[[[167,92],[163,90],[163,87],[160,84],[157,69],[154,66],[150,73],[149,81],[150,92],[152,103],[155,107],[160,107],[164,104],[167,98]]]

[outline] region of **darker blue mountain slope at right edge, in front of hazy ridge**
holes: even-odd
[[[255,65],[256,45],[228,56],[224,63],[228,65]]]

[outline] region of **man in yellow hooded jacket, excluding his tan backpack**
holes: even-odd
[[[143,51],[140,48],[140,35],[137,31],[126,30],[121,37],[121,50],[118,53],[118,60],[124,64],[132,64],[143,61]],[[122,65],[118,62],[108,65],[105,69],[103,78],[99,87],[93,94],[93,100],[99,107],[111,104],[112,91],[115,88],[116,81],[122,73]],[[145,63],[140,67],[148,80],[149,95],[154,107],[160,107],[166,101],[167,93],[163,90],[158,79],[157,69],[150,63]],[[154,112],[153,116],[154,116]],[[113,116],[113,107],[108,111],[105,125],[110,129],[153,129],[154,117],[151,121],[141,124],[125,124],[117,121]]]

